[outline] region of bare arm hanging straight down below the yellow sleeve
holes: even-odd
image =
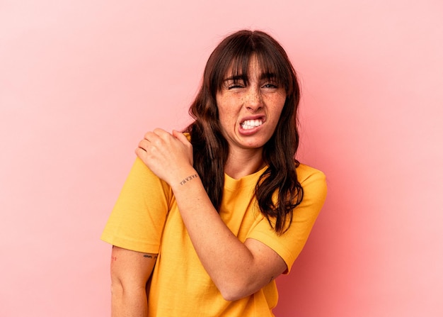
[[[111,316],[146,317],[146,283],[157,255],[113,246],[111,255]]]

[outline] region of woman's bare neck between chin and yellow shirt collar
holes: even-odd
[[[262,157],[263,150],[229,150],[224,172],[234,179],[258,172],[265,166]]]

